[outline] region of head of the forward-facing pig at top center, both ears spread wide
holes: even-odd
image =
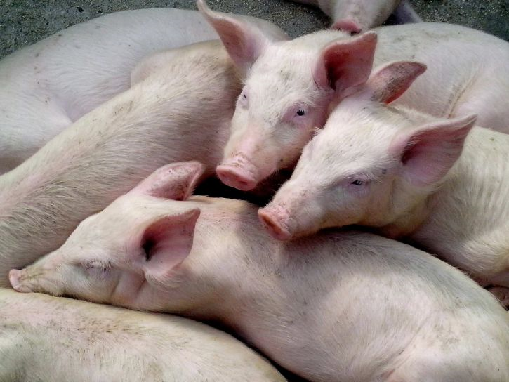
[[[366,81],[376,34],[346,39],[348,34],[336,32],[322,43],[312,37],[272,41],[252,25],[211,11],[202,0],[198,6],[246,77],[216,172],[226,185],[251,190],[296,163],[315,128],[324,125],[335,92]]]

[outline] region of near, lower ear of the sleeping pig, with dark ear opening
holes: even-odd
[[[199,209],[180,215],[162,216],[145,228],[140,241],[145,263],[145,277],[164,280],[189,255]]]

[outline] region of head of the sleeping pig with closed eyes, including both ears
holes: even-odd
[[[161,285],[190,254],[200,211],[165,202],[190,196],[204,166],[163,166],[106,209],[86,218],[59,249],[9,280],[20,292],[70,295],[98,303],[154,309]],[[175,301],[178,304],[178,301]]]

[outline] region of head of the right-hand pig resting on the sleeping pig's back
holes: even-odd
[[[352,224],[397,236],[408,232],[391,227],[396,220],[407,231],[421,223],[423,201],[460,157],[476,119],[416,122],[387,106],[424,71],[418,62],[391,63],[336,107],[290,180],[259,211],[274,237]]]

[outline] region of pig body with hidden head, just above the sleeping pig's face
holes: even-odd
[[[0,176],[0,285],[57,249],[78,223],[166,163],[220,162],[241,83],[219,41],[168,52],[164,67],[85,114]]]

